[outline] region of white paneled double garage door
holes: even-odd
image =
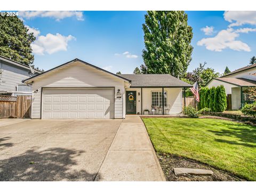
[[[114,89],[43,89],[42,118],[114,118]]]

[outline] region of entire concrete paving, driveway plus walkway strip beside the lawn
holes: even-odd
[[[60,180],[164,177],[139,117],[0,119],[0,181]]]

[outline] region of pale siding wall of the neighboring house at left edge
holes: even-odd
[[[5,61],[1,61],[0,70],[0,90],[3,91],[16,91],[17,85],[29,77],[27,69],[13,66]]]

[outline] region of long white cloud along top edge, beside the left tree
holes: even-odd
[[[76,17],[78,21],[83,21],[83,12],[81,11],[19,11],[19,17],[31,19],[36,17],[49,17],[59,21],[68,17]]]

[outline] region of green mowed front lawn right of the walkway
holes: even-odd
[[[155,150],[256,180],[256,127],[221,119],[143,118]]]

